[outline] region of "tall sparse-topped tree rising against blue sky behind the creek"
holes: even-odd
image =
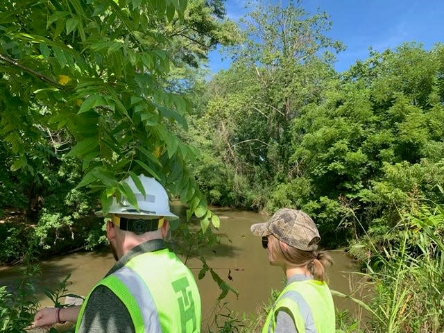
[[[291,121],[304,105],[320,101],[336,76],[330,52],[321,53],[343,46],[325,37],[327,15],[309,15],[300,1],[284,8],[257,6],[245,26],[244,42],[230,50],[232,67],[209,84],[212,96],[202,121],[216,128],[209,134],[211,160],[226,166],[219,192],[230,186],[232,202],[262,210],[273,185],[298,177],[288,149]],[[222,195],[214,202],[227,201]]]

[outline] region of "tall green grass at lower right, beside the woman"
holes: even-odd
[[[378,248],[364,243],[371,253],[365,275],[373,295],[359,300],[334,292],[368,314],[353,318],[352,330],[342,332],[444,332],[443,207],[407,214],[391,232],[398,233],[397,241],[387,237],[390,241]]]

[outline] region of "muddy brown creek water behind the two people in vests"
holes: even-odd
[[[239,291],[239,296],[228,293],[224,299],[228,307],[233,311],[253,314],[260,305],[268,302],[271,289],[282,289],[284,284],[282,269],[268,264],[261,239],[250,233],[250,225],[264,222],[267,217],[241,210],[214,208],[214,212],[221,218],[221,244],[216,245],[214,251],[205,253],[207,264]],[[357,271],[357,267],[343,251],[333,250],[329,253],[334,260],[334,266],[328,270],[330,287],[349,293],[355,283],[353,280],[356,280],[352,272]],[[54,288],[71,273],[69,292],[86,296],[113,264],[114,259],[108,251],[71,253],[41,262],[42,275],[36,294],[40,305],[52,305],[51,300],[41,292],[41,287]],[[213,319],[216,300],[221,291],[210,273],[202,280],[197,279],[200,261],[190,259],[187,266],[196,275],[202,298],[203,322],[209,323]],[[0,268],[0,286],[15,284],[21,277],[22,269],[19,266]],[[231,281],[228,280],[229,271]],[[334,298],[334,301],[340,310],[355,311],[355,306],[348,300]]]

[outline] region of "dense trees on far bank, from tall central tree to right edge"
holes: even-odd
[[[325,246],[382,237],[442,200],[444,48],[371,51],[339,75],[320,51],[341,44],[307,37],[327,26],[297,5],[253,12],[259,46],[248,40],[208,84],[194,122],[200,187],[216,205],[305,210]]]

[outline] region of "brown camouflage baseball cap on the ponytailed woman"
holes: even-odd
[[[312,251],[318,248],[321,240],[313,220],[302,210],[281,208],[265,223],[251,225],[256,236],[273,234],[286,244],[299,250]]]

